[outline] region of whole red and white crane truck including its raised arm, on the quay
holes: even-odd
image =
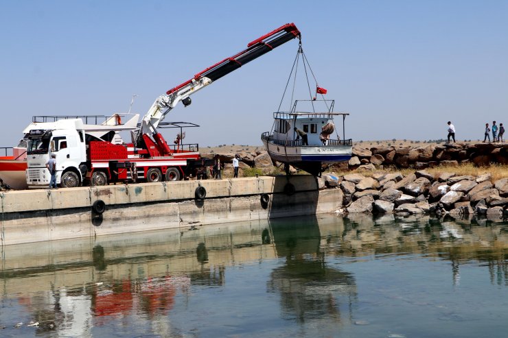
[[[210,165],[210,160],[200,157],[198,145],[183,145],[181,131],[175,145],[170,146],[157,128],[172,125],[182,130],[185,123],[163,123],[166,114],[178,102],[189,106],[190,96],[198,90],[293,38],[300,39],[301,34],[294,23],[288,23],[253,40],[247,49],[213,64],[157,97],[135,130],[132,125],[126,127],[116,121],[100,127],[102,135],[97,135],[97,130],[84,125],[80,119],[56,121],[30,129],[27,185],[37,188],[49,184],[51,177],[45,163],[53,153],[56,153],[57,162],[56,181],[62,187],[97,186],[126,180],[174,181],[199,175],[206,178],[203,168]],[[130,130],[132,143],[112,142],[111,136],[119,130]]]

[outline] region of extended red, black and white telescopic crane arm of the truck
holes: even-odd
[[[251,62],[256,58],[259,58],[259,56],[268,53],[268,51],[271,51],[275,47],[279,47],[280,45],[297,37],[301,38],[301,34],[297,29],[297,26],[295,26],[294,23],[287,23],[268,34],[253,40],[247,45],[247,49],[244,51],[240,51],[240,53],[237,53],[234,56],[213,64],[213,66],[194,75],[192,79],[168,90],[166,95],[157,97],[150,107],[150,110],[148,110],[141,121],[141,128],[139,128],[136,142],[139,143],[143,134],[159,136],[157,135],[158,133],[156,130],[157,125],[163,121],[165,115],[168,114],[168,112],[170,112],[170,110],[172,110],[179,101],[182,101],[184,106],[189,106],[189,104],[191,104],[190,95],[211,84],[211,82],[220,79],[220,77],[223,77],[235,69],[242,67],[247,62]],[[159,143],[159,137],[154,138],[156,142]]]

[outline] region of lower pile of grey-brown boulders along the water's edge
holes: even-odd
[[[425,170],[402,173],[373,173],[367,177],[334,173],[318,178],[320,189],[343,192],[343,213],[434,213],[452,216],[487,215],[489,219],[508,217],[508,178],[492,181],[490,173],[457,176]]]

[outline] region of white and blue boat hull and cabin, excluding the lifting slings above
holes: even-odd
[[[325,112],[301,112],[295,101],[290,112],[273,113],[273,128],[262,133],[261,139],[270,158],[284,163],[286,173],[291,165],[321,176],[323,166],[351,158],[353,141],[345,138],[344,125],[349,114],[333,112],[334,101],[329,103]],[[343,120],[342,138],[336,132],[335,117]]]

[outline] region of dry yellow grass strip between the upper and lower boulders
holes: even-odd
[[[472,163],[467,163],[459,166],[439,166],[435,168],[427,168],[425,169],[428,173],[434,175],[435,178],[438,178],[441,173],[455,173],[457,176],[480,176],[484,173],[490,173],[492,175],[491,181],[496,182],[500,178],[508,178],[508,165],[490,165],[489,167],[475,167]],[[354,171],[334,171],[337,175],[343,176],[348,173],[361,173],[364,176],[372,176],[375,172],[382,173],[395,173],[400,172],[404,176],[414,173],[416,169],[397,169],[395,167],[384,168],[379,171],[366,171],[366,170],[354,170]]]

